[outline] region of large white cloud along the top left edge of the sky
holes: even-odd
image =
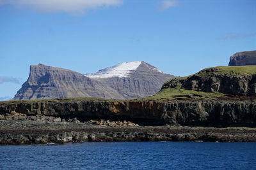
[[[122,0],[0,0],[1,4],[30,8],[45,13],[84,14],[88,10],[120,5]]]

